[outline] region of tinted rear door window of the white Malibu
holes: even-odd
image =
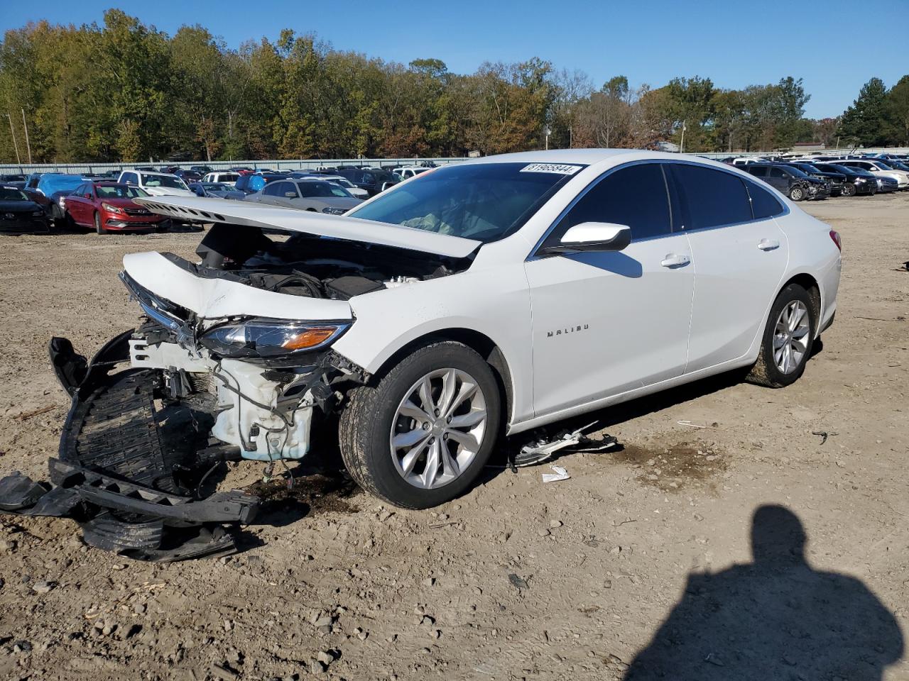
[[[686,210],[685,229],[699,230],[752,220],[744,180],[714,168],[671,163]],[[771,171],[776,170],[771,168]]]

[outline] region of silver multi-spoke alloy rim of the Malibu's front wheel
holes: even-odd
[[[389,445],[398,474],[421,489],[460,476],[476,457],[486,429],[486,400],[466,371],[430,371],[405,392]]]

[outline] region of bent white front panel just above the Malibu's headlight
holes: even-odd
[[[346,301],[305,298],[255,289],[240,281],[200,277],[161,253],[125,255],[123,266],[144,289],[205,320],[239,316],[298,321],[353,319]]]

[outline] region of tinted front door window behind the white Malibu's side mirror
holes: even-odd
[[[606,175],[565,214],[547,237],[547,245],[559,242],[570,227],[581,222],[627,225],[634,241],[672,232],[662,164],[640,163]]]

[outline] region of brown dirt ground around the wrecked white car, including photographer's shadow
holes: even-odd
[[[0,516],[0,678],[909,679],[909,193],[803,207],[844,269],[794,386],[724,376],[596,413],[623,450],[547,484],[488,469],[434,511],[305,479],[227,559],[133,562]],[[198,241],[0,238],[0,474],[45,479],[55,455],[49,337],[94,352],[135,324],[122,256]]]

